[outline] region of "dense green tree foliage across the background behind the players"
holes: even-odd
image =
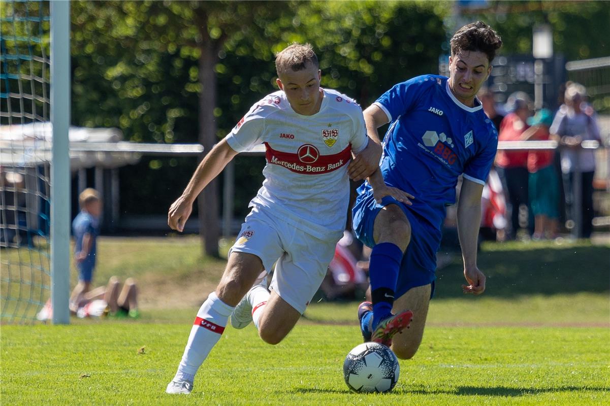
[[[486,4],[462,9],[461,18],[491,24],[503,37],[504,54],[529,54],[533,25],[548,23],[555,51],[567,59],[608,55],[608,36],[601,34],[608,2]],[[293,41],[312,43],[324,87],[366,107],[397,82],[437,72],[455,7],[443,1],[72,2],[73,124],[119,127],[132,141],[199,142],[199,96],[208,91],[200,71],[205,46],[213,46],[215,58],[218,98],[204,109],[213,114],[216,139],[276,90],[274,53]],[[122,208],[163,213],[196,162],[143,162],[121,173],[134,179],[123,181]],[[257,158],[236,160],[240,216],[260,185],[262,165]]]

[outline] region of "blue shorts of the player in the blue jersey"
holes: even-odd
[[[398,205],[411,224],[411,241],[400,264],[396,295],[400,297],[411,288],[432,285],[430,293],[430,297],[432,297],[436,280],[436,252],[439,250],[442,237],[440,230],[392,196],[386,196],[382,199],[381,204],[378,204],[373,198],[373,191],[368,188],[365,193],[357,196],[352,209],[356,237],[363,244],[373,248],[375,246],[375,240],[373,240],[375,218],[379,210],[389,204]]]

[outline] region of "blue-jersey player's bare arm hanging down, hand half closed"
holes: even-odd
[[[485,275],[476,265],[476,249],[481,226],[481,194],[483,185],[464,179],[458,202],[458,236],[464,259],[464,277],[468,285],[462,291],[481,294],[485,290]]]

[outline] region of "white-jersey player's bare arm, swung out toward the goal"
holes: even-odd
[[[195,173],[188,182],[182,195],[170,206],[167,213],[167,224],[172,230],[182,232],[190,213],[193,210],[193,202],[201,191],[231,162],[237,155],[224,138],[220,143],[203,158]]]

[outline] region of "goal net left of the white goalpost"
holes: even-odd
[[[50,9],[49,1],[0,7],[3,324],[35,322],[51,296]]]

